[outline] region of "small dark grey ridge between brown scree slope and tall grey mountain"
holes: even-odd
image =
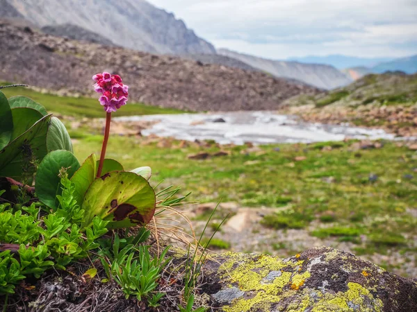
[[[75,26],[72,24],[61,24],[57,26],[44,26],[41,28],[42,32],[49,35],[54,35],[57,37],[66,37],[72,40],[83,40],[88,42],[94,42],[98,44],[103,44],[105,46],[114,46],[115,44],[108,40],[107,38],[99,35],[98,33],[93,33],[88,31],[85,28],[80,26]]]

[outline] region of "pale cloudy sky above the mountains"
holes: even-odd
[[[216,48],[265,58],[417,54],[417,0],[148,0]]]

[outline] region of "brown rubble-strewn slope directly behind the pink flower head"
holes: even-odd
[[[105,69],[123,76],[131,102],[195,111],[274,110],[319,91],[261,72],[77,42],[7,22],[0,23],[0,42],[0,80],[60,94],[92,95],[91,77]]]

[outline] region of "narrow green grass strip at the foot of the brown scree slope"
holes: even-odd
[[[0,85],[9,85],[0,83]],[[85,117],[104,117],[104,110],[97,98],[71,98],[67,96],[55,96],[52,94],[42,94],[24,87],[11,87],[1,89],[9,98],[11,96],[28,96],[34,101],[41,103],[48,112],[58,112],[67,116],[85,116]],[[123,110],[113,113],[114,116],[132,116],[132,115],[149,115],[149,114],[177,114],[180,110],[149,106],[138,103],[128,103]]]

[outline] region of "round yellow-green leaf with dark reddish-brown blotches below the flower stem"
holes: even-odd
[[[92,182],[85,193],[83,227],[99,216],[109,229],[146,225],[155,213],[155,192],[140,175],[112,171]]]

